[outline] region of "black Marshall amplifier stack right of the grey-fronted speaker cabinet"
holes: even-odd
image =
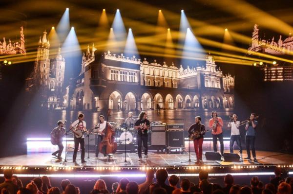
[[[184,146],[184,124],[167,125],[167,148],[180,149]]]

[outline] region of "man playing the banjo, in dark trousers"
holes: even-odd
[[[84,121],[84,114],[79,114],[78,115],[78,120],[76,120],[75,122],[73,122],[70,125],[70,128],[73,128],[75,125],[76,126],[76,130],[81,130],[81,131],[86,131],[86,123]],[[84,135],[81,138],[76,138],[74,136],[74,152],[73,152],[73,162],[76,162],[76,155],[77,155],[77,151],[78,151],[78,147],[81,144],[81,150],[82,150],[82,155],[81,155],[81,159],[82,159],[82,163],[85,163],[86,161],[84,160]]]

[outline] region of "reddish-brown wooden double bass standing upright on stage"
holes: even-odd
[[[103,136],[103,140],[100,143],[99,151],[100,153],[104,155],[114,154],[117,151],[117,143],[114,141],[115,131],[113,130],[113,127],[108,124],[110,113],[111,113],[111,109],[108,110],[106,127],[103,130],[103,133],[105,134],[105,136]]]

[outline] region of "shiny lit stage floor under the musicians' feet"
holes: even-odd
[[[203,153],[203,161],[204,165],[208,166],[222,166],[222,165],[266,165],[266,164],[292,164],[293,155],[285,154],[280,152],[268,152],[268,151],[257,151],[257,162],[253,160],[244,159],[240,162],[225,162],[225,161],[213,161],[206,160],[205,152]],[[143,155],[144,156],[144,155]],[[63,153],[64,160],[64,153]],[[243,158],[247,157],[246,152],[243,152]],[[128,163],[124,163],[125,155],[124,152],[117,152],[113,155],[113,159],[107,160],[102,157],[99,159],[95,158],[95,153],[89,153],[89,159],[87,159],[87,153],[85,153],[86,163],[81,163],[80,160],[80,152],[78,152],[77,156],[77,164],[78,166],[187,166],[190,164],[194,165],[194,161],[196,159],[195,153],[191,152],[190,154],[191,163],[188,162],[189,154],[183,153],[171,153],[165,154],[165,152],[149,152],[148,159],[143,159],[142,161],[138,161],[137,153],[127,153],[126,160]],[[19,155],[19,156],[11,156],[0,158],[0,166],[54,166],[54,167],[63,167],[63,166],[73,166],[72,163],[72,152],[67,153],[67,163],[61,164],[61,162],[56,161],[54,157],[50,153],[39,153],[39,154],[29,154],[29,155]]]

